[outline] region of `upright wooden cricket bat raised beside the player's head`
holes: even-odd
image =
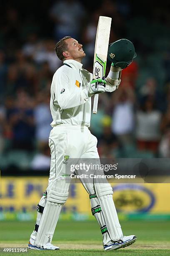
[[[95,54],[93,62],[93,79],[105,79],[107,51],[110,37],[112,18],[100,16],[95,40]],[[93,114],[97,114],[98,94],[95,94],[93,102]]]

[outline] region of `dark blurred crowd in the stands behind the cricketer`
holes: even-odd
[[[42,1],[28,10],[12,3],[6,2],[0,17],[1,167],[25,161],[27,168],[49,168],[50,85],[62,65],[55,44],[64,36],[76,38],[86,53],[83,67],[92,72],[100,15],[112,17],[110,43],[127,38],[137,52],[122,71],[119,89],[100,95],[98,113],[92,115],[90,130],[97,136],[100,157],[170,157],[170,13],[166,7],[155,5],[143,16],[125,0],[99,1],[97,9],[76,0]]]

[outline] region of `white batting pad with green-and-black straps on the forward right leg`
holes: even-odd
[[[100,225],[103,245],[111,240],[119,240],[123,234],[112,199],[112,187],[106,179],[105,183],[100,183],[97,179],[94,179],[94,184],[85,182],[83,179],[81,179],[81,182],[90,194],[92,215],[95,216]]]

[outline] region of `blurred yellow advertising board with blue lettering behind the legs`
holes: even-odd
[[[1,177],[1,212],[35,212],[48,183],[47,177]],[[170,184],[115,184],[113,199],[118,212],[170,214]],[[90,200],[80,183],[70,184],[62,212],[90,214]]]

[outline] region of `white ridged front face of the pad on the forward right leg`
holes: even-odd
[[[109,183],[95,183],[94,185],[110,240],[117,241],[123,234],[112,198],[112,187]]]

